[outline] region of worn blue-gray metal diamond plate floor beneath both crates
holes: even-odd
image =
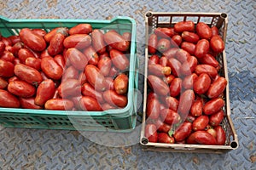
[[[144,151],[135,144],[106,146],[90,133],[3,128],[0,169],[256,169],[256,3],[255,1],[1,1],[9,18],[111,19],[125,15],[137,21],[138,56],[143,63],[146,11],[224,12],[229,16],[226,54],[230,106],[240,147],[223,155]],[[141,42],[141,44],[140,44]],[[142,70],[143,72],[143,67]],[[142,73],[143,74],[143,73]],[[140,83],[143,87],[143,78]],[[141,88],[142,89],[142,88]],[[137,128],[139,129],[139,127]],[[109,135],[107,145],[125,135]],[[129,136],[129,134],[127,134]],[[107,138],[107,137],[102,137]]]

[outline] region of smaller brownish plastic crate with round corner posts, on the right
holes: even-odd
[[[183,20],[192,20],[197,24],[200,21],[207,23],[208,26],[217,26],[219,34],[226,39],[226,32],[228,27],[227,14],[222,13],[159,13],[147,12],[145,14],[146,20],[146,44],[148,44],[148,35],[154,32],[157,27],[173,27],[175,23]],[[147,100],[147,77],[148,77],[148,46],[145,48],[145,79],[144,79],[144,102],[143,102],[143,126],[141,131],[140,143],[144,150],[155,151],[174,151],[174,152],[203,152],[203,153],[224,153],[229,150],[234,150],[238,147],[238,139],[233,122],[230,118],[230,94],[229,85],[224,91],[224,112],[225,118],[221,126],[224,127],[226,133],[226,141],[224,145],[206,145],[206,144],[163,144],[148,142],[145,137],[146,125],[146,100]],[[225,51],[218,54],[218,62],[221,65],[220,74],[229,81],[228,68]]]

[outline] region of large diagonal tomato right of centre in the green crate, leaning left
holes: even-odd
[[[107,88],[105,77],[95,65],[86,65],[84,73],[90,85],[98,91],[104,91]]]

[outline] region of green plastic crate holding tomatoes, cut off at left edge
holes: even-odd
[[[120,34],[131,32],[128,104],[123,109],[108,111],[47,111],[12,109],[0,107],[0,124],[3,127],[27,127],[44,129],[67,129],[84,131],[130,132],[136,125],[138,59],[136,55],[136,22],[129,17],[113,20],[69,20],[69,19],[15,19],[0,17],[0,31],[3,37],[18,35],[20,29],[41,28],[50,31],[55,27],[73,27],[89,23],[93,29],[104,32],[116,30]]]

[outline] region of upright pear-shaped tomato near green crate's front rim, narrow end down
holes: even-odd
[[[55,82],[51,79],[41,82],[37,89],[34,103],[43,106],[48,99],[52,99],[55,94]]]

